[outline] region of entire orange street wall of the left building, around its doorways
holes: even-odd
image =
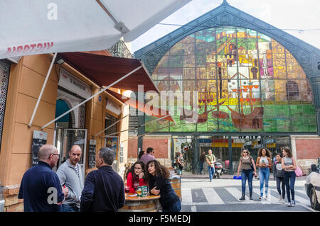
[[[32,126],[28,128],[27,125],[31,120],[51,60],[52,55],[31,55],[22,57],[18,64],[11,64],[0,152],[0,181],[5,200],[4,211],[23,210],[23,200],[18,200],[18,191],[23,174],[31,167],[33,130],[41,130],[43,125],[55,118],[60,67],[92,86],[92,94],[100,91],[100,87],[93,84],[92,81],[75,71],[68,64],[62,64],[62,66],[54,64]],[[101,101],[99,96],[96,96],[86,103],[87,154],[89,152],[89,140],[105,128],[105,113],[107,112],[105,99],[108,98],[117,105],[122,105],[120,101],[106,92],[103,92],[100,96],[102,97]],[[121,115],[115,116],[119,118]],[[54,125],[55,123],[52,123],[43,129],[44,132],[48,133],[47,144],[53,144],[54,142]],[[124,120],[118,129],[125,130],[127,128],[128,121]],[[104,135],[105,133],[102,133],[100,137],[94,138],[97,140],[96,150],[103,147],[102,136]],[[120,139],[126,139],[125,135],[122,135]],[[124,151],[126,150],[127,148],[124,148]],[[87,154],[86,169],[88,166]],[[124,155],[124,158],[126,157],[127,154]],[[127,162],[127,159],[124,159],[124,162]]]

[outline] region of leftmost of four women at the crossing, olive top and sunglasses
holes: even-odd
[[[252,167],[253,170],[252,170]],[[250,194],[250,200],[252,200],[252,179],[253,179],[253,174],[257,174],[257,169],[255,168],[255,161],[253,158],[250,156],[250,152],[248,149],[243,149],[242,154],[239,160],[239,167],[238,167],[238,174],[240,169],[241,171],[241,183],[242,183],[242,196],[239,200],[245,200],[245,183],[247,182],[247,185],[249,186],[249,194]],[[253,172],[252,172],[253,171]]]

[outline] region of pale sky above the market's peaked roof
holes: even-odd
[[[319,0],[227,0],[245,13],[320,49]],[[193,0],[160,23],[184,25],[220,6],[223,0]],[[132,53],[180,26],[157,24],[132,42]],[[294,30],[285,30],[294,29]],[[314,30],[316,29],[316,30]],[[303,31],[302,31],[303,30]]]

